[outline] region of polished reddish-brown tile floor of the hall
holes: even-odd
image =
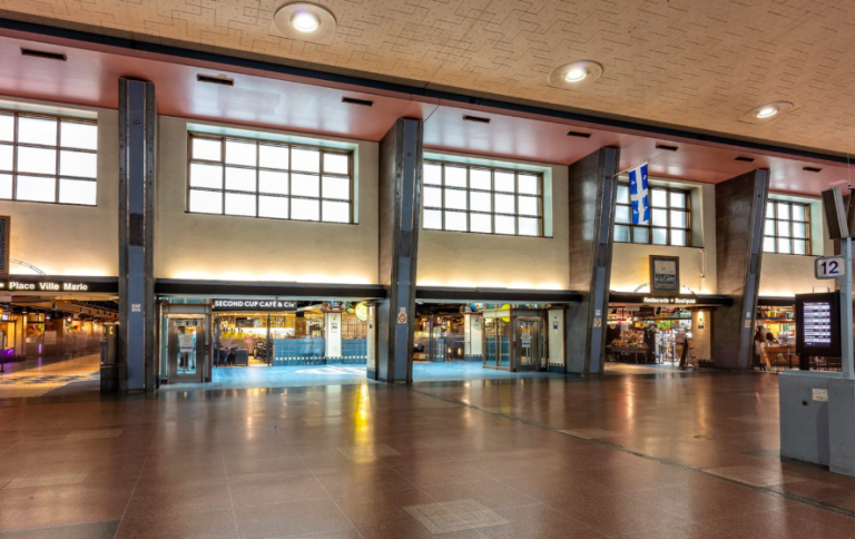
[[[0,401],[0,538],[855,538],[782,462],[777,376]]]

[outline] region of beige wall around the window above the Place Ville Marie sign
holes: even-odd
[[[69,107],[0,97],[0,108],[80,116],[98,116],[97,206],[0,202],[0,215],[11,223],[11,257],[48,275],[117,276],[119,274],[119,125],[110,109]],[[11,273],[33,275],[12,264]]]

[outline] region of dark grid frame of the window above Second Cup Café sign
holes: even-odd
[[[220,144],[220,160],[215,161],[210,159],[196,159],[193,156],[193,141],[194,139],[205,139],[205,140],[215,140]],[[240,144],[247,144],[252,143],[255,144],[255,166],[250,165],[234,165],[234,164],[227,164],[226,163],[226,143],[228,140],[237,141]],[[265,146],[276,146],[281,148],[287,148],[288,149],[288,168],[271,168],[271,167],[262,167],[261,166],[261,147],[262,145]],[[304,171],[304,170],[293,170],[292,165],[292,150],[294,148],[297,149],[308,149],[312,151],[318,151],[321,154],[320,156],[320,168],[317,173],[311,173],[311,171]],[[344,198],[330,198],[324,197],[324,156],[326,154],[335,154],[335,155],[345,155],[347,156],[347,189],[348,189],[348,197],[346,199]],[[203,165],[216,165],[223,168],[222,173],[222,186],[220,188],[212,188],[212,187],[195,187],[190,186],[190,169],[194,163],[203,164]],[[255,190],[248,192],[248,190],[235,190],[235,189],[228,189],[226,188],[226,170],[227,168],[243,168],[248,170],[255,170]],[[258,192],[258,179],[261,171],[267,170],[273,173],[279,173],[279,174],[286,174],[288,179],[288,194],[277,194],[277,193],[259,193]],[[317,176],[318,182],[318,196],[312,197],[312,196],[304,196],[304,195],[294,195],[292,190],[292,174],[304,174],[309,176]],[[336,178],[343,178],[344,175],[338,173],[330,173],[327,176],[336,177]],[[203,133],[203,131],[194,131],[188,130],[187,131],[187,180],[185,185],[185,213],[193,214],[193,215],[222,215],[227,217],[244,217],[244,218],[254,218],[254,219],[272,219],[272,220],[281,220],[281,222],[296,222],[296,223],[324,223],[328,225],[355,225],[354,223],[354,200],[356,197],[356,194],[354,193],[354,187],[356,185],[355,177],[354,177],[354,151],[352,149],[341,149],[341,148],[326,148],[323,146],[313,146],[311,144],[303,144],[303,143],[286,143],[286,141],[279,141],[279,140],[268,140],[264,138],[252,138],[252,137],[240,137],[240,136],[233,136],[233,135],[215,135],[209,133]],[[191,212],[190,210],[190,192],[191,190],[204,190],[208,193],[218,193],[222,195],[222,208],[220,213],[213,213],[213,212]],[[255,215],[235,215],[235,214],[227,214],[226,213],[226,194],[238,194],[238,195],[253,195],[255,196]],[[287,198],[288,199],[288,216],[285,218],[281,217],[266,217],[258,215],[259,209],[259,199],[262,196],[265,197],[274,197],[274,198]],[[301,200],[317,200],[318,204],[318,218],[315,219],[295,219],[292,217],[293,215],[293,204],[292,200],[294,198],[301,199]],[[324,202],[335,202],[335,203],[347,203],[348,212],[347,212],[347,222],[340,222],[340,220],[324,220]]]

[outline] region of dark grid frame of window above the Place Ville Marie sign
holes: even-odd
[[[98,139],[96,138],[96,149],[86,149],[86,148],[75,148],[69,146],[61,146],[62,140],[62,122],[67,121],[69,124],[83,124],[83,125],[90,125],[95,126],[96,129],[98,128],[98,119],[90,119],[90,118],[78,118],[75,116],[65,116],[65,115],[51,115],[51,114],[41,114],[41,112],[31,112],[28,110],[10,110],[10,109],[0,109],[0,116],[11,116],[13,118],[13,127],[12,127],[12,140],[0,140],[0,145],[2,146],[11,146],[12,147],[12,169],[11,170],[4,170],[0,169],[0,174],[2,175],[11,175],[12,176],[12,197],[11,198],[0,198],[0,203],[3,202],[16,202],[16,203],[30,203],[30,204],[56,204],[59,206],[78,206],[78,207],[85,207],[85,208],[94,208],[98,206]],[[53,120],[57,122],[57,138],[56,138],[56,145],[47,145],[47,144],[33,144],[33,143],[20,143],[18,140],[19,133],[20,133],[20,118],[35,118],[35,119],[48,119]],[[96,135],[97,137],[97,135]],[[21,173],[18,170],[18,148],[24,147],[24,148],[35,148],[35,149],[47,149],[47,150],[56,150],[57,157],[56,157],[56,174],[45,174],[45,173]],[[72,176],[68,174],[60,174],[60,157],[62,155],[62,151],[75,151],[79,154],[89,154],[96,156],[96,169],[95,169],[95,177],[89,178],[85,176]],[[53,180],[53,200],[29,200],[29,199],[19,199],[18,198],[18,176],[29,176],[29,177],[38,177],[38,178],[50,178]],[[80,204],[80,203],[63,203],[59,200],[60,196],[60,179],[71,179],[75,182],[90,182],[95,184],[95,200],[92,204]]]

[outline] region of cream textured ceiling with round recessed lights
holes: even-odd
[[[855,149],[855,2],[818,0],[326,0],[331,46],[276,37],[289,0],[0,0],[0,14],[184,41],[436,88],[586,109],[824,151]],[[583,90],[556,67],[605,66]],[[768,101],[796,109],[739,121]]]

